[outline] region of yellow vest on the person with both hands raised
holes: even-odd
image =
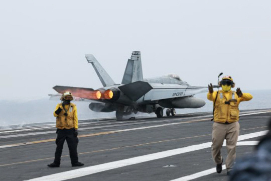
[[[239,120],[239,109],[237,94],[230,91],[231,100],[227,100],[223,91],[217,93],[217,100],[214,105],[214,121],[219,123],[233,123]]]

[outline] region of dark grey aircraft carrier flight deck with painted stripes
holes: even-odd
[[[253,152],[267,131],[271,109],[240,112],[237,159]],[[211,155],[212,113],[116,121],[79,121],[79,161],[72,167],[65,143],[58,168],[54,124],[0,130],[3,180],[227,180]],[[226,147],[222,156],[226,157]]]

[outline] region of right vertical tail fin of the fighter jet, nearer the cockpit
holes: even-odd
[[[133,51],[131,54],[131,59],[128,59],[127,61],[121,83],[128,84],[139,80],[143,81],[141,53],[140,51]]]

